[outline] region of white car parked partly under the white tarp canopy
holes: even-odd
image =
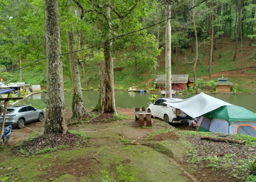
[[[193,120],[183,111],[171,107],[163,102],[173,102],[182,99],[161,98],[148,106],[147,112],[151,112],[152,116],[163,119],[166,123],[188,123]]]

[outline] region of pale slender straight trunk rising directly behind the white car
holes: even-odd
[[[165,28],[165,86],[166,86],[166,98],[172,98],[172,46],[171,46],[171,5],[167,5],[166,11],[166,28]],[[170,94],[167,94],[167,91],[170,91]]]

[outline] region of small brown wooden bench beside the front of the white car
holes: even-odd
[[[152,126],[151,123],[151,113],[148,113],[145,109],[145,107],[142,107],[142,110],[140,111],[140,108],[135,108],[135,121],[139,123],[140,127],[144,126],[144,121],[146,121],[146,126]]]

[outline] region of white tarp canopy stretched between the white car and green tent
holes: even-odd
[[[185,114],[191,116],[192,118],[206,114],[207,112],[215,110],[221,106],[232,105],[223,100],[204,94],[203,92],[188,99],[164,103],[171,107],[182,110],[185,112]]]

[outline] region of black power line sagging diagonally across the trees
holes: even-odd
[[[204,3],[205,1],[207,1],[207,0],[203,0],[203,1],[201,1],[200,3],[198,3],[197,5],[195,5],[195,6],[191,7],[191,8],[189,8],[189,9],[187,9],[187,10],[185,10],[185,11],[182,11],[182,12],[180,12],[180,13],[177,13],[176,15],[171,16],[171,17],[168,18],[168,19],[165,19],[165,20],[163,20],[163,21],[159,21],[158,23],[149,25],[149,26],[144,27],[144,28],[140,28],[140,29],[135,30],[135,31],[132,31],[132,32],[128,32],[128,33],[125,33],[125,34],[122,34],[122,35],[118,35],[118,36],[113,37],[113,38],[111,38],[111,39],[105,40],[104,42],[102,42],[102,43],[100,43],[100,44],[97,44],[97,45],[94,45],[94,46],[91,46],[91,47],[87,47],[87,48],[84,48],[84,49],[72,51],[72,52],[65,52],[65,53],[57,54],[57,55],[53,55],[53,56],[45,56],[44,58],[40,58],[40,59],[38,59],[38,60],[35,60],[34,62],[32,62],[32,63],[30,63],[30,64],[27,64],[26,66],[23,66],[23,67],[20,67],[20,68],[16,68],[16,69],[12,69],[12,70],[1,71],[0,73],[6,72],[6,71],[20,70],[20,69],[22,69],[22,68],[25,68],[25,67],[27,67],[27,66],[30,66],[31,64],[34,64],[34,63],[40,61],[40,60],[42,60],[42,59],[53,58],[53,57],[56,57],[56,56],[62,56],[62,55],[66,55],[66,54],[71,54],[71,53],[75,53],[75,52],[80,52],[80,51],[83,51],[83,50],[91,49],[91,48],[94,48],[94,47],[97,47],[97,46],[101,46],[102,44],[105,44],[106,42],[108,42],[108,41],[110,41],[110,40],[113,40],[113,39],[116,39],[116,38],[119,38],[119,37],[123,37],[123,36],[129,35],[129,34],[132,34],[132,33],[136,33],[136,32],[142,31],[142,30],[144,30],[144,29],[147,29],[147,28],[153,27],[153,26],[155,26],[155,25],[158,25],[158,24],[160,24],[160,23],[163,23],[163,22],[165,22],[165,21],[167,21],[167,20],[169,20],[169,19],[172,19],[172,18],[174,18],[174,17],[176,17],[176,16],[178,16],[178,15],[180,15],[180,14],[182,14],[182,13],[185,13],[185,12],[187,12],[187,11],[190,11],[191,9],[193,9],[193,8],[195,8],[195,7],[197,7],[197,6],[199,6],[200,4]]]

